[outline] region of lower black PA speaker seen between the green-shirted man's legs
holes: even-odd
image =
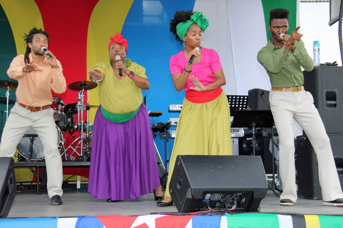
[[[304,199],[321,200],[316,153],[306,135],[297,136],[296,142],[298,196]],[[339,170],[342,168],[338,169],[338,177],[343,189],[343,172]]]

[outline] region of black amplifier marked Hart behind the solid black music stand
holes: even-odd
[[[275,136],[275,133],[274,133]],[[275,158],[273,159],[273,154],[270,151],[270,144],[272,139],[272,134],[264,132],[255,134],[257,141],[257,147],[255,147],[255,155],[261,156],[262,163],[264,166],[265,174],[277,173],[277,167],[275,164]],[[238,138],[238,154],[239,155],[252,155],[251,146],[252,134],[245,134],[243,137]],[[276,151],[275,151],[276,152]]]

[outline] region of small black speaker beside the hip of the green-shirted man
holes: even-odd
[[[270,107],[267,103],[263,100],[261,94],[263,95],[264,99],[269,103],[269,91],[264,89],[250,89],[248,91],[249,101],[248,105],[251,110],[270,110]]]

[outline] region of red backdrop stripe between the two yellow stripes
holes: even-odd
[[[67,86],[86,80],[88,24],[98,0],[35,0],[49,34],[49,50],[61,62]],[[75,103],[78,92],[68,89],[60,96],[64,103]],[[87,93],[85,92],[87,100]]]

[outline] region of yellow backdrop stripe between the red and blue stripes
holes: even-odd
[[[121,33],[132,3],[133,0],[99,0],[95,5],[88,25],[87,69],[93,69],[98,62],[109,61],[109,38],[116,35],[117,32]],[[115,14],[113,13],[114,9]],[[130,47],[130,41],[128,44]],[[88,74],[85,78],[90,80]],[[88,90],[88,100],[92,105],[99,105],[98,87]],[[95,112],[96,109],[90,110],[90,123],[94,123]]]

